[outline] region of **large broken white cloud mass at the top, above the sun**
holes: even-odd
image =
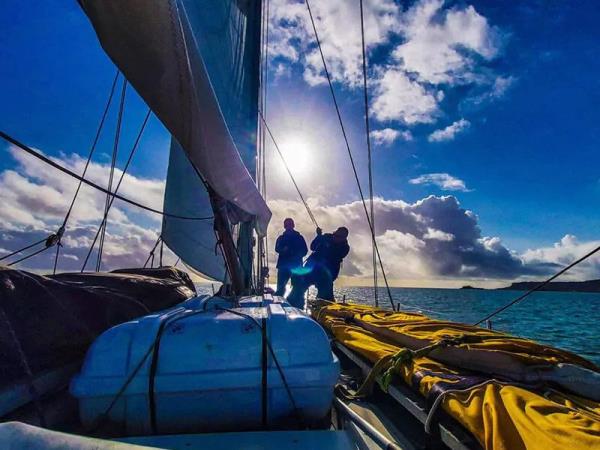
[[[328,0],[312,2],[311,7],[333,81],[360,87],[358,3]],[[300,66],[309,85],[325,83],[304,2],[274,0],[271,11],[269,54],[274,72],[292,73],[281,70],[283,61]],[[445,90],[473,85],[478,95],[495,97],[511,83],[510,76],[496,74],[488,64],[499,57],[504,35],[471,5],[417,0],[403,10],[394,0],[369,0],[365,31],[367,50],[378,52],[369,81],[373,117],[380,122],[433,123],[441,116]]]

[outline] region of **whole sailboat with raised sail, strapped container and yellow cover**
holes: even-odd
[[[266,292],[260,0],[79,3],[172,135],[161,241],[223,284],[196,295],[174,268],[5,274],[52,284],[48,298],[82,289],[64,294],[74,308],[98,291],[85,285],[107,283],[104,299],[155,301],[94,328],[85,357],[61,360],[38,335],[52,370],[17,351],[27,376],[0,393],[0,447],[600,448],[600,368],[577,355],[419,313],[322,299],[300,310]],[[5,347],[21,348],[23,327],[4,318]]]

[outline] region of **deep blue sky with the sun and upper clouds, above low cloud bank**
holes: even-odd
[[[304,7],[293,0],[272,3],[272,26],[278,32],[271,36],[269,121],[282,147],[296,141],[312,163],[297,172],[306,195],[322,214],[339,213],[341,206],[357,199],[356,187],[329,91],[320,78],[320,62],[311,59],[315,48],[302,18]],[[353,47],[359,38],[357,2],[313,3],[351,146],[366,182],[364,111]],[[477,216],[473,226],[481,230],[479,239],[500,238],[502,251],[525,264],[563,264],[600,239],[600,5],[523,3],[367,2],[373,21],[367,17],[371,125],[396,137],[374,146],[375,189],[386,201],[407,205],[429,195],[451,195],[463,212]],[[429,16],[423,12],[426,8],[432,11]],[[52,156],[85,155],[115,73],[87,18],[74,1],[8,0],[3,10],[1,129]],[[145,105],[130,92],[126,108],[123,142],[130,143]],[[114,124],[114,114],[111,117]],[[109,123],[107,129],[113,128]],[[96,158],[99,165],[109,160],[110,142],[105,135]],[[163,180],[168,143],[167,132],[153,118],[131,175],[138,181]],[[23,161],[12,157],[4,144],[0,147],[0,171],[27,173]],[[126,153],[121,152],[121,165]],[[300,210],[290,206],[296,198],[272,152],[269,165],[269,199],[275,202],[271,206],[279,220],[288,207]],[[28,177],[37,184],[49,182]],[[158,226],[146,216],[124,211],[134,225]],[[52,220],[42,222],[49,227]],[[35,228],[9,219],[0,223],[13,231]],[[277,227],[276,223],[275,231]],[[407,236],[427,239],[393,226],[381,229],[381,234],[388,231],[400,233],[398,248],[413,256],[420,244],[411,247]],[[147,239],[152,240],[150,235]],[[553,250],[561,239],[564,251]],[[527,256],[528,249],[537,253]],[[415,261],[417,266],[427,265],[430,259]],[[463,267],[469,264],[462,261]],[[348,276],[360,277],[365,265],[348,270]],[[403,270],[398,268],[396,278],[403,278]],[[488,280],[542,273],[413,272],[408,276],[412,281],[428,274],[462,281],[470,276]],[[596,265],[581,276],[594,275]]]

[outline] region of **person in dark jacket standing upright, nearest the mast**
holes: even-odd
[[[275,295],[283,296],[285,286],[292,271],[302,267],[302,258],[308,253],[304,237],[294,230],[294,220],[287,218],[283,221],[284,232],[275,242],[277,259],[277,291]]]

